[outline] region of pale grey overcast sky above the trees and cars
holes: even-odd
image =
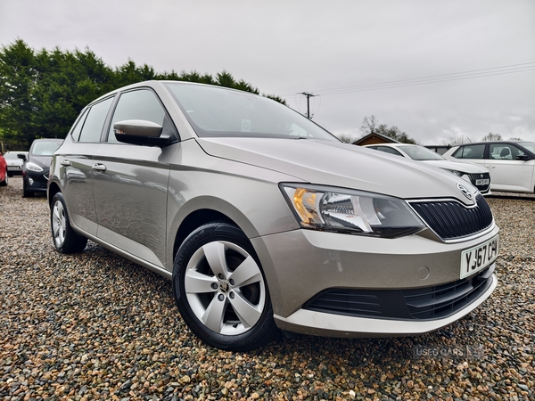
[[[424,144],[490,132],[535,141],[533,0],[0,0],[0,44],[17,37],[87,46],[112,67],[227,70],[303,113],[298,93],[320,94],[314,120],[333,134],[358,138],[374,114]],[[523,72],[485,70],[516,64]],[[480,77],[362,90],[464,71]]]

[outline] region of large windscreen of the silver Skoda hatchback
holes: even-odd
[[[340,142],[297,111],[266,97],[215,86],[166,86],[201,137],[258,136]]]

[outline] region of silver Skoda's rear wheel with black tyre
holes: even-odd
[[[53,196],[52,208],[50,209],[50,226],[52,228],[53,244],[61,253],[81,252],[86,248],[87,239],[70,226],[67,206],[62,192]]]

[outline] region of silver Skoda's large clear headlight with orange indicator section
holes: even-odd
[[[301,227],[393,238],[424,223],[398,198],[322,185],[280,184]]]

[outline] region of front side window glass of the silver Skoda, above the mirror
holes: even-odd
[[[163,127],[165,111],[160,101],[151,90],[141,89],[120,95],[119,102],[111,119],[108,142],[119,143],[113,133],[113,124],[127,119],[144,119]]]

